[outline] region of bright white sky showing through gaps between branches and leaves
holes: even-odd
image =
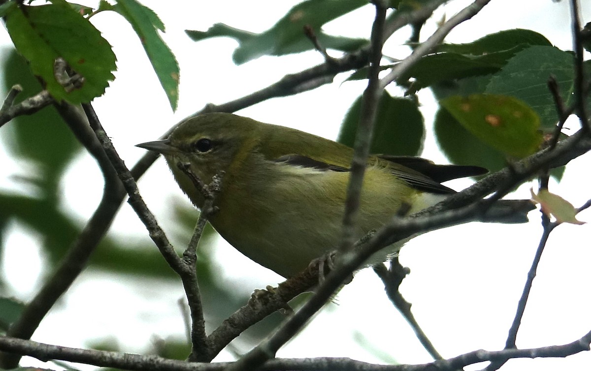
[[[591,4],[582,2],[584,24],[591,20]],[[92,1],[83,3],[96,6]],[[164,38],[180,63],[180,102],[176,113],[171,112],[131,27],[114,14],[103,13],[93,18],[94,24],[115,48],[118,58],[116,80],[105,96],[95,100],[94,106],[119,154],[130,166],[144,153],[135,148],[135,144],[156,139],[173,123],[206,103],[227,102],[265,87],[286,73],[322,62],[320,54],[310,52],[259,58],[237,67],[230,58],[235,41],[216,38],[193,43],[184,34],[185,29],[206,30],[215,22],[253,32],[264,31],[285,14],[293,2],[150,0],[144,4],[163,19],[167,27]],[[466,4],[469,2],[454,1],[440,9],[423,29],[424,37],[436,27],[434,21],[439,21],[443,15],[449,18]],[[558,47],[570,49],[568,14],[566,1],[493,0],[481,14],[457,27],[447,41],[469,42],[490,32],[520,27],[541,32]],[[373,9],[366,6],[332,22],[326,30],[367,37],[372,19]],[[408,33],[401,32],[400,37],[389,41],[386,53],[403,57],[405,49],[397,45],[407,36]],[[0,42],[2,45],[10,42],[4,30],[0,30]],[[346,110],[365,87],[362,82],[341,85],[344,79],[338,76],[337,83],[330,86],[295,97],[272,99],[238,113],[334,139]],[[392,93],[400,92],[392,90]],[[427,125],[430,125],[436,109],[433,98],[424,91],[420,99]],[[0,187],[18,190],[19,186],[9,178],[26,171],[24,165],[12,162],[2,148],[0,156]],[[423,156],[446,161],[431,136],[427,137]],[[588,163],[589,155],[573,161],[563,182],[552,184],[551,190],[580,206],[590,197],[586,178],[579,175],[587,173]],[[102,180],[86,155],[74,162],[70,174],[63,184],[63,206],[83,223],[98,204]],[[461,189],[467,184],[467,181],[457,181],[452,187]],[[139,186],[148,206],[163,221],[170,213],[166,205],[173,198],[183,198],[162,160],[142,178]],[[521,187],[515,197],[529,198],[529,187]],[[80,193],[80,189],[85,191]],[[164,189],[170,190],[170,194],[163,195]],[[415,317],[445,357],[504,346],[541,234],[538,215],[532,213],[530,219],[530,223],[520,226],[472,223],[453,227],[418,237],[402,249],[401,261],[412,271],[402,285],[402,293],[413,303]],[[591,218],[589,213],[582,213],[580,219],[590,221]],[[122,207],[113,230],[122,238],[147,238],[127,205]],[[587,272],[591,263],[589,232],[589,226],[568,225],[559,227],[551,236],[519,331],[519,347],[568,343],[591,328],[588,310],[591,298],[587,295]],[[15,226],[14,233],[7,239],[2,269],[11,279],[11,293],[22,300],[33,295],[40,271],[47,269],[43,258],[39,261],[32,258],[37,255],[37,243],[35,236],[22,226]],[[228,285],[251,292],[281,281],[274,273],[243,258],[225,242],[221,241],[217,249],[223,271],[220,280]],[[137,282],[134,277],[113,282],[111,277],[100,272],[85,272],[41,324],[33,339],[84,347],[86,341],[109,337],[118,339],[129,352],[142,352],[153,335],[183,336],[183,322],[176,302],[182,295],[180,285]],[[346,356],[367,362],[387,362],[364,350],[363,344],[389,354],[398,362],[430,361],[385,297],[381,282],[371,270],[359,272],[352,284],[340,292],[337,302],[338,305],[329,305],[317,315],[278,356]],[[240,343],[236,346],[240,352],[248,350],[241,348]],[[216,360],[232,359],[232,355],[225,352]],[[27,362],[52,367],[35,360]],[[591,353],[587,352],[566,360],[516,360],[504,370],[587,370],[590,364]]]

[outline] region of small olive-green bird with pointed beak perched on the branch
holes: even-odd
[[[281,276],[303,271],[339,246],[353,155],[345,145],[229,113],[207,113],[187,119],[168,139],[138,147],[164,155],[197,207],[204,197],[178,162],[190,164],[205,184],[224,171],[214,203],[219,211],[209,222],[230,245]],[[369,157],[355,235],[379,229],[403,207],[412,214],[455,193],[443,181],[484,173],[423,158]],[[527,222],[527,216],[502,222]],[[382,261],[401,245],[384,249]]]

